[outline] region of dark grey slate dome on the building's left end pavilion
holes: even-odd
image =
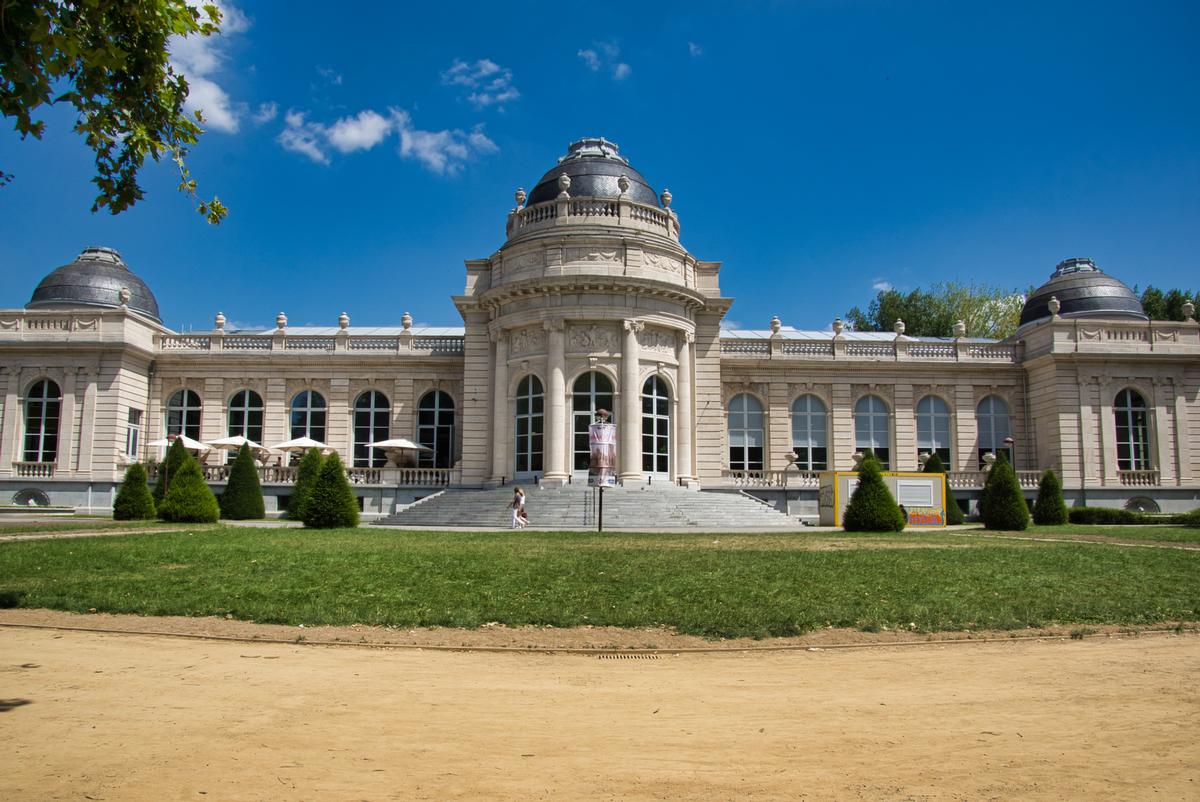
[[[121,289],[130,293],[127,305],[131,310],[162,323],[154,293],[126,267],[121,255],[110,247],[85,247],[74,262],[42,279],[25,309],[116,309],[121,305]]]

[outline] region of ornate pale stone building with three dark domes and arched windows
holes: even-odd
[[[622,480],[740,487],[815,515],[816,473],[872,448],[893,469],[938,453],[960,497],[1006,450],[1031,491],[1072,503],[1192,509],[1200,493],[1200,328],[1150,322],[1086,259],[1058,265],[1016,335],[971,339],[722,330],[720,263],[680,244],[671,193],[604,139],[572,143],[506,239],[466,263],[462,327],[168,330],[109,249],[0,311],[0,497],[102,510],[168,436],[311,437],[340,451],[368,513],[445,486],[564,484],[587,468],[596,409],[618,426]],[[407,437],[428,450],[371,443]],[[394,457],[389,460],[389,456]],[[216,486],[226,454],[204,455]],[[268,508],[290,492],[262,467]]]

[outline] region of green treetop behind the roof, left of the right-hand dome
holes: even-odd
[[[949,337],[962,321],[972,337],[1003,340],[1016,331],[1024,305],[1025,297],[1014,289],[949,281],[907,294],[881,289],[866,312],[856,306],[846,321],[856,331],[892,331],[899,319],[914,337]]]

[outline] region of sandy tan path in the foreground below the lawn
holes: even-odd
[[[5,800],[1195,800],[1200,638],[662,656],[0,630]]]

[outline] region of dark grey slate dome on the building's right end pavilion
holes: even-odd
[[[1050,299],[1058,299],[1060,317],[1148,321],[1133,291],[1096,267],[1091,259],[1063,259],[1050,281],[1030,295],[1021,325],[1050,317]]]

